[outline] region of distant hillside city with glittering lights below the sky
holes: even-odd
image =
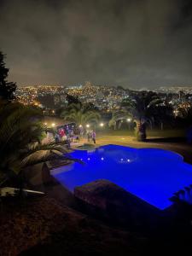
[[[172,86],[160,87],[153,90],[167,104],[171,104],[175,114],[178,108],[191,108],[192,87]],[[102,111],[111,112],[119,109],[120,103],[133,94],[142,93],[142,90],[124,89],[121,86],[107,84],[96,85],[90,82],[84,84],[62,86],[59,84],[37,84],[18,86],[16,96],[19,102],[25,105],[34,105],[40,108],[61,108],[67,105],[67,94],[78,97],[80,102],[92,103]]]

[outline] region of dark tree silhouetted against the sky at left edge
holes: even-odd
[[[0,99],[11,101],[15,98],[16,84],[7,81],[9,68],[5,67],[4,57],[0,51]]]

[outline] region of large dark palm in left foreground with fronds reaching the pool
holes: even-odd
[[[22,172],[26,166],[55,157],[65,158],[61,144],[42,144],[44,125],[41,112],[17,102],[0,103],[0,185]]]

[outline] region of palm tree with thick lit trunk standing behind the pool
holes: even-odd
[[[146,125],[152,128],[154,122],[154,108],[162,103],[160,98],[152,91],[143,91],[135,96],[126,98],[121,106],[130,113],[136,123],[137,140],[146,139]]]

